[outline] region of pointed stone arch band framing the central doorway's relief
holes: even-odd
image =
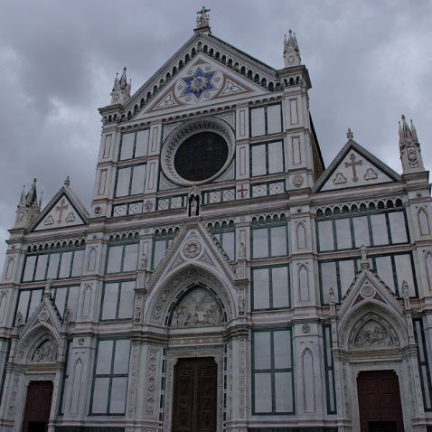
[[[225,321],[229,321],[235,315],[234,298],[221,276],[209,268],[194,263],[179,266],[175,272],[155,286],[152,297],[147,300],[146,322],[167,325],[174,305],[177,305],[179,300],[194,286],[202,286],[204,289],[211,290],[226,315]]]

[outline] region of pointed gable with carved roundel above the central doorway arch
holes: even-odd
[[[165,277],[169,277],[179,267],[197,264],[203,268],[214,268],[231,282],[238,276],[230,267],[229,258],[225,255],[216,240],[211,237],[198,223],[188,223],[174,239],[171,247],[166,251],[147,287],[153,287]]]

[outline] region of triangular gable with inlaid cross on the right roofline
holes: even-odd
[[[400,182],[399,174],[350,139],[315,184],[326,192],[378,183]]]

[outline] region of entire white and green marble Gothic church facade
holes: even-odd
[[[100,108],[93,199],[23,191],[0,284],[0,430],[427,431],[430,186],[359,145],[324,167],[284,68],[211,33]],[[398,143],[395,143],[395,151]],[[429,307],[430,306],[430,307]]]

